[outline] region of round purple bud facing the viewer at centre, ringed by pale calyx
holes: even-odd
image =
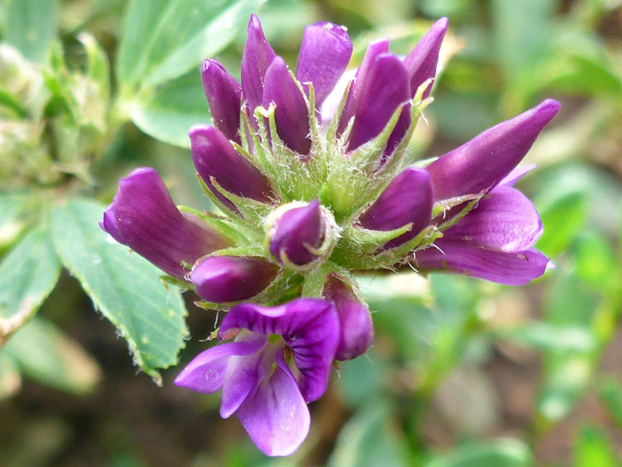
[[[334,244],[332,214],[317,199],[283,205],[268,223],[270,254],[281,264],[305,266],[326,257]]]

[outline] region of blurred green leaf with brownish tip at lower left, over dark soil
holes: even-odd
[[[39,316],[17,331],[0,355],[10,356],[29,378],[76,394],[93,390],[100,379],[95,360]]]

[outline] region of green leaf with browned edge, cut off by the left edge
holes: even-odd
[[[61,271],[50,231],[26,235],[0,263],[0,344],[35,313]]]

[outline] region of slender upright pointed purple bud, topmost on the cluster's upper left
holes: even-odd
[[[242,55],[242,92],[252,115],[255,108],[261,105],[265,72],[276,54],[263,34],[257,15],[251,15],[247,32]],[[251,121],[254,119],[251,118]]]

